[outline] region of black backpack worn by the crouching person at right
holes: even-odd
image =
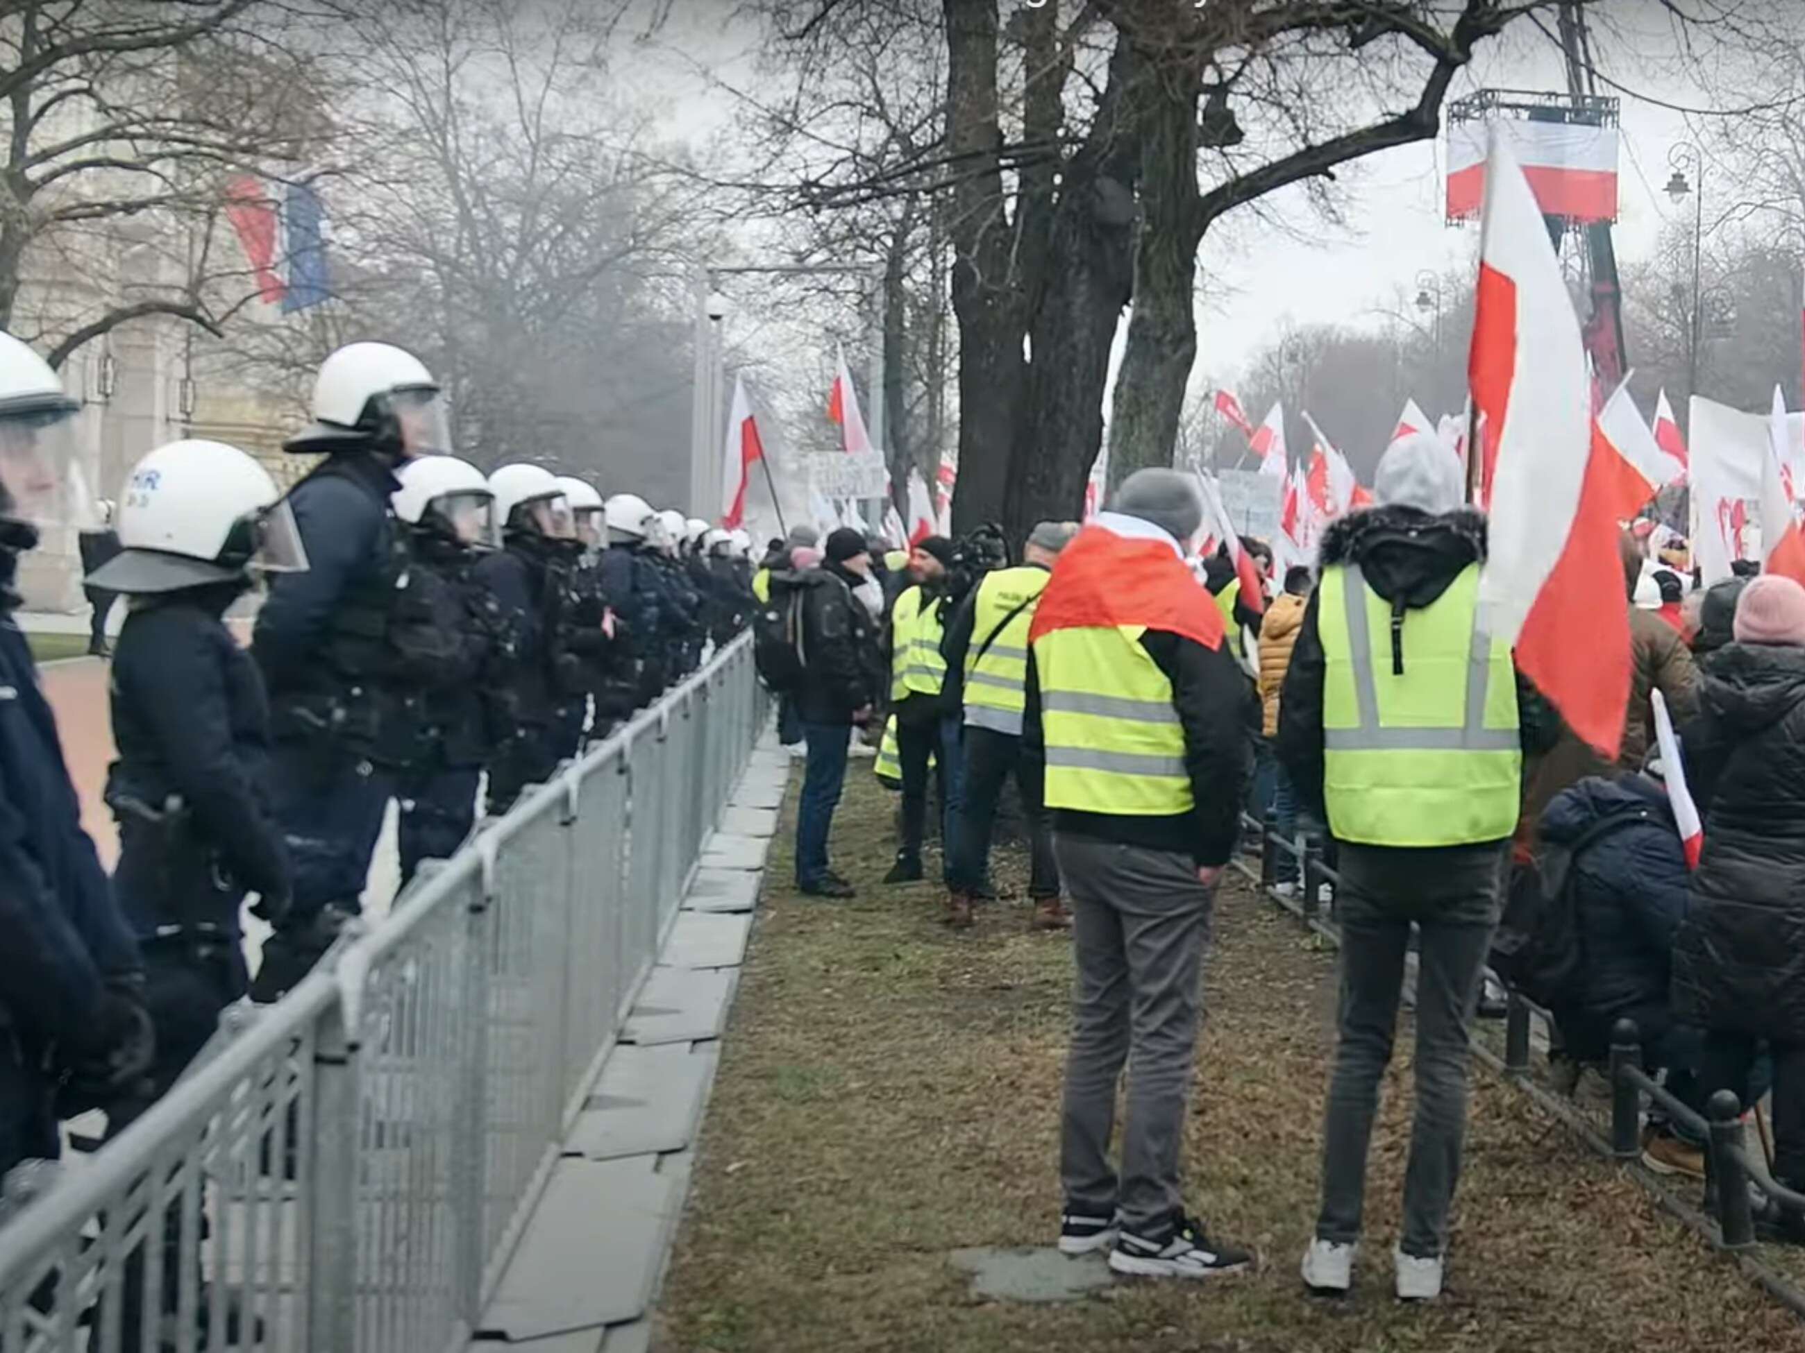
[[[1511,879],[1491,942],[1491,967],[1504,983],[1545,1010],[1572,1010],[1585,999],[1585,942],[1570,888],[1572,862],[1612,832],[1653,821],[1643,808],[1606,814],[1572,841],[1550,846]]]

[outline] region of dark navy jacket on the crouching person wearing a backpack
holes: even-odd
[[[1673,936],[1686,920],[1686,850],[1668,792],[1643,774],[1588,776],[1554,796],[1540,839],[1567,846],[1605,817],[1606,830],[1569,862],[1585,994],[1561,1028],[1579,1057],[1599,1057],[1628,1016],[1657,1023],[1668,1005]],[[1653,1030],[1650,1030],[1653,1032]]]

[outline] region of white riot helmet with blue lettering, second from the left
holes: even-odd
[[[159,446],[132,467],[119,545],[88,574],[90,586],[155,594],[307,568],[269,473],[235,446],[199,438]]]

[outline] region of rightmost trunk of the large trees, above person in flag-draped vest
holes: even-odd
[[[1197,191],[1200,69],[1184,54],[1143,54],[1141,233],[1134,310],[1110,411],[1110,487],[1148,465],[1170,465],[1197,361],[1191,289],[1202,211]]]

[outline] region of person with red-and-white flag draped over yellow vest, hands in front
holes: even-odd
[[[1245,676],[1184,563],[1200,523],[1188,474],[1128,476],[1041,594],[1023,722],[1045,756],[1078,962],[1060,1250],[1108,1248],[1112,1270],[1150,1277],[1251,1263],[1186,1210],[1179,1178],[1211,898],[1249,770]],[[1108,1147],[1125,1064],[1117,1174]]]

